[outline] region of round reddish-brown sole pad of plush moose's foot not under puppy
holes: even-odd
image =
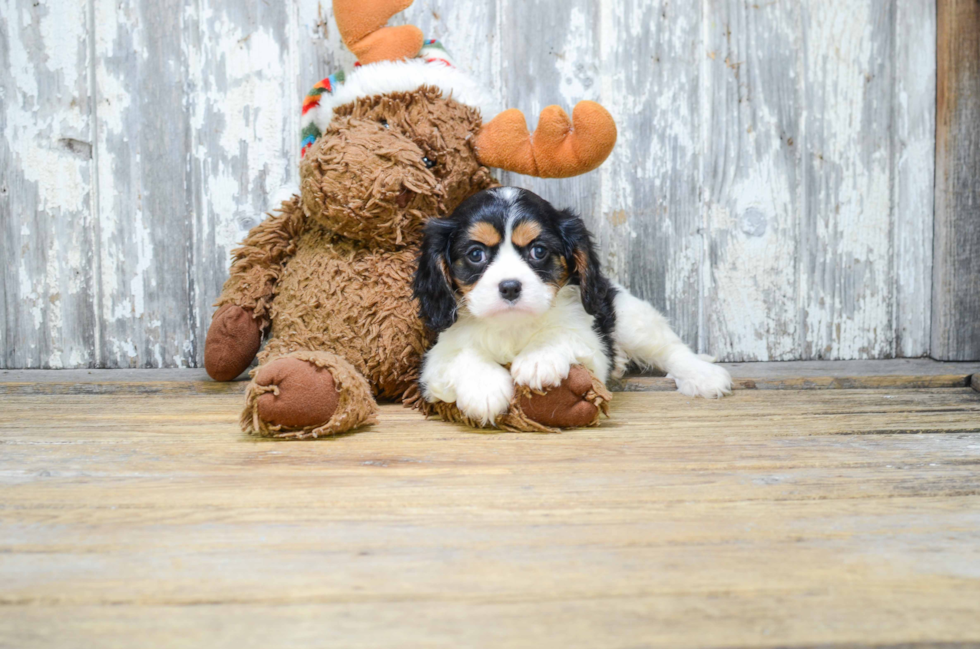
[[[259,417],[287,428],[319,426],[337,411],[340,393],[330,371],[298,358],[280,358],[260,368],[256,385],[274,387],[256,401]]]

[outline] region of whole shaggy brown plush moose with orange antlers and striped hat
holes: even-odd
[[[496,186],[488,166],[565,177],[599,166],[616,126],[598,104],[573,119],[557,107],[529,134],[507,111],[482,123],[482,90],[412,26],[385,27],[411,0],[334,0],[361,65],[304,104],[299,196],[234,253],[205,345],[205,367],[230,381],[258,354],[242,427],[283,438],[345,432],[373,420],[376,399],[451,421],[424,404],[420,363],[431,342],[412,299],[422,226]],[[263,337],[265,349],[259,353]],[[545,394],[518,391],[498,425],[550,431],[592,425],[609,394],[581,367]]]

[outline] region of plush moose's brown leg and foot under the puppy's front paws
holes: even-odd
[[[497,429],[510,432],[557,433],[562,428],[588,428],[599,425],[609,415],[612,394],[591,372],[576,365],[561,385],[546,392],[518,387],[510,410],[497,420]],[[466,417],[454,403],[423,403],[426,415],[472,428],[489,428]]]

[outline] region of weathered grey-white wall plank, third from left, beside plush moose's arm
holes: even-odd
[[[298,186],[302,97],[323,78],[300,83],[307,50],[293,40],[293,3],[200,4],[189,102],[198,210],[193,256],[204,263],[194,266],[194,347],[186,352],[187,364],[197,367],[231,250],[265,218],[283,187]]]

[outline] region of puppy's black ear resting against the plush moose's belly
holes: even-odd
[[[422,237],[419,267],[415,271],[413,289],[415,299],[419,301],[419,317],[436,333],[456,322],[456,295],[449,271],[449,247],[455,232],[453,221],[429,221]]]

